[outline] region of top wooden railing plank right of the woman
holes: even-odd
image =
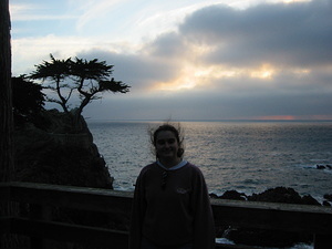
[[[331,235],[332,208],[312,205],[211,200],[217,225]]]

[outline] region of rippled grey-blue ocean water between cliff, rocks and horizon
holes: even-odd
[[[87,121],[114,188],[133,190],[155,159],[148,131],[158,122]],[[180,122],[185,158],[205,175],[209,193],[247,195],[279,186],[319,201],[332,194],[332,122]]]

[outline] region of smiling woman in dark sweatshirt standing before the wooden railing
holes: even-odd
[[[129,249],[211,249],[215,226],[204,176],[183,159],[179,131],[159,126],[152,135],[157,160],[136,180]]]

